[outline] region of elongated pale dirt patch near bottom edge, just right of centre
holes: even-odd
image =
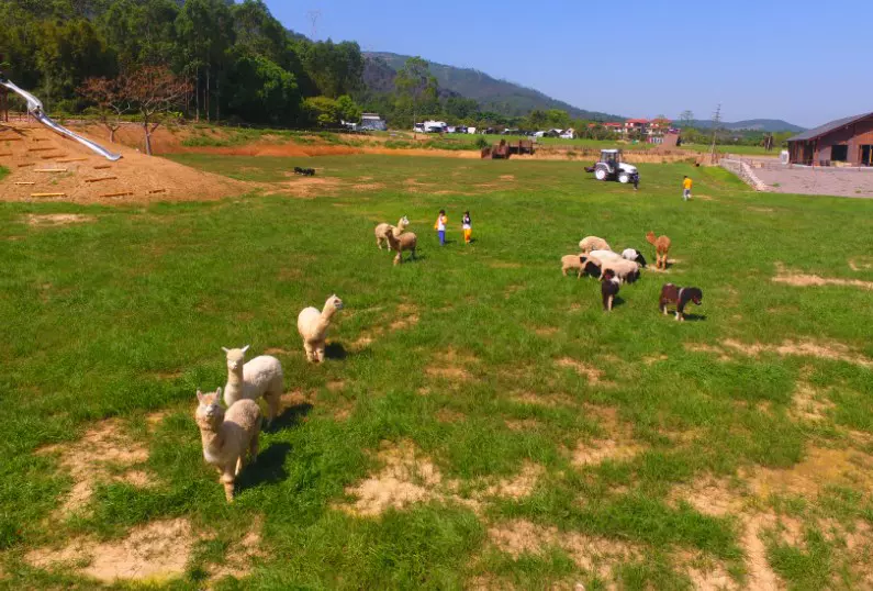
[[[581,569],[613,580],[613,568],[640,556],[635,546],[577,532],[559,532],[557,527],[515,520],[490,527],[488,536],[497,549],[518,558],[524,554],[541,555],[550,546],[563,548]]]

